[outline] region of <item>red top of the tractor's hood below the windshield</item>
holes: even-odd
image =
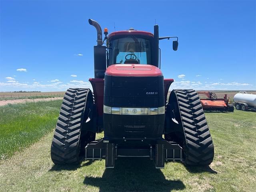
[[[133,77],[152,77],[162,76],[159,68],[153,65],[143,64],[114,64],[110,65],[106,74],[110,76],[133,76]]]

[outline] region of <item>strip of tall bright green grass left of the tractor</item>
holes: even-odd
[[[61,100],[0,106],[0,159],[6,159],[52,131]]]

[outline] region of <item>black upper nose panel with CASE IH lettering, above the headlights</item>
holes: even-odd
[[[160,107],[164,101],[164,79],[105,75],[104,105],[112,107]]]

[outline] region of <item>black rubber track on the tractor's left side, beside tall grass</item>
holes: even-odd
[[[83,123],[92,105],[90,89],[70,88],[66,91],[52,139],[51,158],[54,164],[76,164],[82,161],[82,146],[95,139],[95,133],[87,132]]]

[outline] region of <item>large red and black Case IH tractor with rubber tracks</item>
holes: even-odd
[[[102,41],[100,25],[94,46],[94,78],[87,88],[66,91],[51,146],[55,164],[105,159],[106,168],[122,157],[148,157],[156,168],[164,162],[209,165],[214,147],[199,96],[194,90],[172,90],[173,79],[160,70],[158,25],[154,34],[112,32]],[[106,46],[103,46],[106,40]],[[104,138],[95,135],[104,130]],[[164,138],[163,138],[164,135]]]

